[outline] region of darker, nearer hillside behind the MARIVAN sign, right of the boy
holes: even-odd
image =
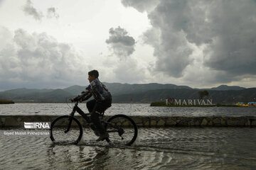
[[[176,99],[196,99],[198,98],[197,89],[164,89],[152,90],[137,94],[123,94],[113,97],[113,102],[116,103],[151,103],[160,101],[161,98],[176,98]],[[208,91],[209,96],[205,99],[213,99],[213,103],[237,103],[239,101],[249,102],[255,101],[256,88],[245,89],[241,91]]]

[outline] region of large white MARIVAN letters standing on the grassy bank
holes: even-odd
[[[213,105],[213,99],[207,99],[206,101],[203,99],[175,99],[168,98],[166,99],[166,105],[174,104],[174,105]]]

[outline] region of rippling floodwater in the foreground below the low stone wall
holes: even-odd
[[[140,128],[131,147],[96,139],[1,135],[0,169],[256,169],[256,128]]]

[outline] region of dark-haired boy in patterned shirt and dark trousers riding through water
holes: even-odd
[[[88,72],[88,80],[90,82],[89,86],[82,91],[82,93],[75,97],[71,98],[71,101],[86,101],[88,98],[93,96],[95,99],[88,101],[86,103],[87,109],[90,113],[90,118],[92,123],[95,125],[95,128],[100,132],[100,137],[96,140],[97,142],[107,139],[110,137],[108,132],[100,123],[100,114],[103,113],[107,108],[110,108],[112,103],[112,96],[110,91],[107,90],[106,86],[100,82],[98,79],[99,72],[97,70],[92,70]]]

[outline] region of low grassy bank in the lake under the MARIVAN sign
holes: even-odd
[[[150,106],[163,106],[163,107],[238,107],[233,104],[215,104],[215,105],[174,105],[174,104],[169,104],[166,105],[166,102],[161,101],[161,102],[152,102]]]

